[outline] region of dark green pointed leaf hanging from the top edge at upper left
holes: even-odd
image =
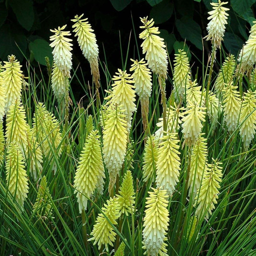
[[[9,0],[8,4],[12,7],[20,25],[26,30],[30,30],[34,23],[34,10],[31,0]]]

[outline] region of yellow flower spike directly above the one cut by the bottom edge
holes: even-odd
[[[160,138],[158,159],[156,162],[156,185],[158,188],[167,189],[167,194],[172,195],[180,177],[180,140],[177,133],[167,133]]]

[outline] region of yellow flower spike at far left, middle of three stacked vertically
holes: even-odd
[[[6,116],[6,147],[12,142],[18,145],[25,157],[28,147],[28,132],[30,127],[26,122],[25,109],[21,102],[14,101],[10,106],[10,111]]]

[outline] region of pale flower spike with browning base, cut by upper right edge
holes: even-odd
[[[253,25],[251,29],[251,34],[249,35],[248,40],[245,42],[245,45],[241,49],[239,56],[238,56],[238,61],[240,64],[237,66],[237,73],[244,73],[248,72],[250,73],[252,71],[253,65],[256,62],[256,29],[255,29],[255,24]]]

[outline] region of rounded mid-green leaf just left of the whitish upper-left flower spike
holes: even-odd
[[[28,48],[30,53],[33,54],[34,59],[41,65],[46,65],[45,57],[49,57],[50,64],[52,64],[52,48],[48,42],[43,39],[36,39],[28,45]]]

